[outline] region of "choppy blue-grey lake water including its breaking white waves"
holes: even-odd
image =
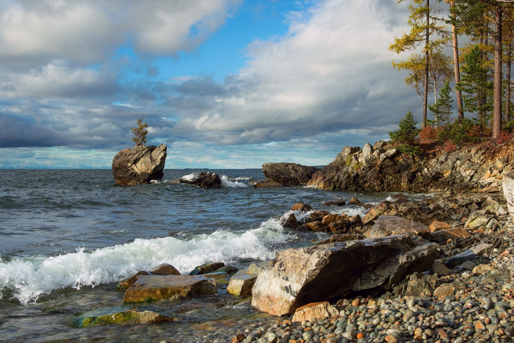
[[[162,182],[134,187],[115,186],[111,170],[0,170],[0,341],[155,341],[191,324],[258,315],[234,308],[241,299],[221,287],[217,296],[141,306],[180,315],[178,322],[77,328],[81,313],[120,305],[116,282],[138,270],[165,262],[181,273],[214,261],[244,267],[327,237],[280,225],[297,202],[322,209],[338,198],[389,196],[253,188],[247,184],[264,178],[259,169],[210,171],[223,175],[223,188],[169,183],[194,170],[165,170]],[[364,214],[353,205],[323,209]]]

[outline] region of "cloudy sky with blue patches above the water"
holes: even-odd
[[[111,168],[149,125],[166,168],[326,165],[423,101],[395,0],[3,0],[0,168]]]

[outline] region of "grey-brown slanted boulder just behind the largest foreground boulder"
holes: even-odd
[[[430,228],[427,225],[416,223],[396,215],[379,216],[369,237],[377,238],[410,232],[426,240],[430,239]]]

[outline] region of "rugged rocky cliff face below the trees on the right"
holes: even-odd
[[[514,142],[481,145],[419,159],[400,154],[380,141],[364,149],[345,147],[316,172],[307,185],[326,190],[430,192],[500,189],[503,175],[514,169]]]

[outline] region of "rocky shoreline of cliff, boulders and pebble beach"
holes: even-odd
[[[363,150],[346,147],[321,170],[266,164],[265,186],[437,193],[417,202],[399,195],[375,206],[353,198],[352,204],[369,209],[364,218],[296,204],[282,216],[283,227],[332,237],[278,251],[276,259],[235,275],[232,270],[231,277],[214,267],[196,276],[212,293],[214,277],[220,277],[213,274],[224,273],[229,293],[242,300],[251,296],[242,306],[251,301],[254,308],[278,317],[242,320],[207,335],[162,337],[161,343],[512,341],[509,185],[514,176],[508,173],[514,164],[509,144],[496,151],[475,147],[419,161],[378,142]],[[138,278],[127,292],[141,288],[151,276]]]

